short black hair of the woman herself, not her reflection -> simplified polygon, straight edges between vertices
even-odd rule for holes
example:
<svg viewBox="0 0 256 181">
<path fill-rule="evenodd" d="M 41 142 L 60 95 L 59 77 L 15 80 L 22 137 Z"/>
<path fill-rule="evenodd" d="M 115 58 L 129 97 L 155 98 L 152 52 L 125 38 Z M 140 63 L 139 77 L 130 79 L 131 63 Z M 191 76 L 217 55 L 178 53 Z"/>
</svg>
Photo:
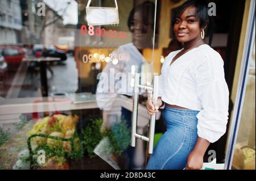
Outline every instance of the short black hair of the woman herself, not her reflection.
<svg viewBox="0 0 256 181">
<path fill-rule="evenodd" d="M 188 0 L 185 1 L 175 12 L 174 18 L 172 19 L 172 26 L 174 27 L 175 19 L 180 17 L 181 14 L 187 9 L 188 7 L 195 7 L 196 8 L 196 18 L 200 20 L 200 28 L 205 28 L 205 36 L 209 36 L 209 44 L 212 43 L 212 36 L 214 32 L 214 18 L 213 16 L 208 15 L 209 7 L 208 7 L 207 0 Z"/>
</svg>

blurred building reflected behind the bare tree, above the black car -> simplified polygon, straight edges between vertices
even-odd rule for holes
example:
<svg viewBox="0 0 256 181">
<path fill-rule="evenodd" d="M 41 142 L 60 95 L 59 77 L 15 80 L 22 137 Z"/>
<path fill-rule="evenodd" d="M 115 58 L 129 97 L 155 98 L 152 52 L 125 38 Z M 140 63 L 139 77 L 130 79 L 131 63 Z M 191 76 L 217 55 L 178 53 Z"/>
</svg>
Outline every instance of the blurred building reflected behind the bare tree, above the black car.
<svg viewBox="0 0 256 181">
<path fill-rule="evenodd" d="M 37 6 L 42 0 L 20 0 L 22 7 L 22 43 L 57 45 L 59 37 L 74 36 L 72 25 L 63 25 L 59 12 L 46 5 L 46 15 L 39 16 Z"/>
</svg>

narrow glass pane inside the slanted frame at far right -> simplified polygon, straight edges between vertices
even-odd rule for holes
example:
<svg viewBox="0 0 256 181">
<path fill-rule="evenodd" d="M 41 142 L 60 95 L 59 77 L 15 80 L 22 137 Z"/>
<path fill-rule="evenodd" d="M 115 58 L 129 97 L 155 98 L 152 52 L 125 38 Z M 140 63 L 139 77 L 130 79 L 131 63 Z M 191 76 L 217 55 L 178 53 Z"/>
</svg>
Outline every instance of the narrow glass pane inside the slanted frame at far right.
<svg viewBox="0 0 256 181">
<path fill-rule="evenodd" d="M 249 61 L 245 99 L 232 169 L 255 170 L 255 40 L 253 54 Z"/>
</svg>

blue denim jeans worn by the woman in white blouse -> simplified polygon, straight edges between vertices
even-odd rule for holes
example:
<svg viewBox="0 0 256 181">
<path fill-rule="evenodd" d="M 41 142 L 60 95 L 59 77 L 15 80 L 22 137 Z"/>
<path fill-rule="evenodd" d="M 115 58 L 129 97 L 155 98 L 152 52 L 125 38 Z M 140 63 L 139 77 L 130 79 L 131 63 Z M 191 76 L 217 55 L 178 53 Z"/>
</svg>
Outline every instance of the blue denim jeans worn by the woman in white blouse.
<svg viewBox="0 0 256 181">
<path fill-rule="evenodd" d="M 187 165 L 188 155 L 197 141 L 197 113 L 199 111 L 180 110 L 165 107 L 163 119 L 167 131 L 159 139 L 151 155 L 147 169 L 178 170 Z"/>
</svg>

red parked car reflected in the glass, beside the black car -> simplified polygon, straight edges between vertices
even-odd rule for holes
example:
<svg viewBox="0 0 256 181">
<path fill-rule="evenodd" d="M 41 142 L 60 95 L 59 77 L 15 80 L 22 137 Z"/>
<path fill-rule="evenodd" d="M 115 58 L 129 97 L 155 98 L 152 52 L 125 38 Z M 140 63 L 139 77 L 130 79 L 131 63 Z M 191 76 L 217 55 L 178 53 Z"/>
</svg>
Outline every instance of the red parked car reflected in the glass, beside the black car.
<svg viewBox="0 0 256 181">
<path fill-rule="evenodd" d="M 0 47 L 2 56 L 5 58 L 7 64 L 20 63 L 24 58 L 26 49 L 20 47 Z"/>
</svg>

